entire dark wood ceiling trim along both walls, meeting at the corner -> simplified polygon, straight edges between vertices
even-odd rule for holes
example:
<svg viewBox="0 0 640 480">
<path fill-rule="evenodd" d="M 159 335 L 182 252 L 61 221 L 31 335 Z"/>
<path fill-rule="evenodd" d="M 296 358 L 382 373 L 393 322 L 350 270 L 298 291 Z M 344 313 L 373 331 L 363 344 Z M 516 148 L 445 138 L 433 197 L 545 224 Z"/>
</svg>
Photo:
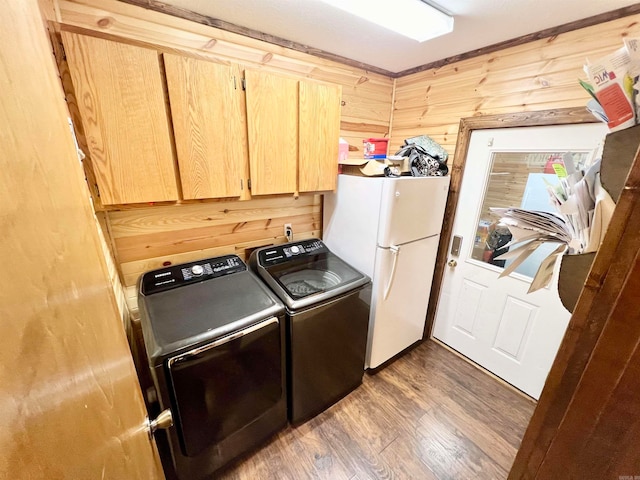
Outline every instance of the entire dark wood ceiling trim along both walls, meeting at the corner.
<svg viewBox="0 0 640 480">
<path fill-rule="evenodd" d="M 617 10 L 612 10 L 610 12 L 605 12 L 599 15 L 583 18 L 581 20 L 576 20 L 575 22 L 565 23 L 564 25 L 559 25 L 557 27 L 551 27 L 544 30 L 540 30 L 539 32 L 522 35 L 520 37 L 512 38 L 510 40 L 505 40 L 504 42 L 494 43 L 493 45 L 488 45 L 486 47 L 478 48 L 470 52 L 465 52 L 459 55 L 443 58 L 442 60 L 437 60 L 435 62 L 420 65 L 414 68 L 403 70 L 401 72 L 392 72 L 390 70 L 385 70 L 384 68 L 369 65 L 363 62 L 358 62 L 356 60 L 352 60 L 350 58 L 343 57 L 341 55 L 336 55 L 331 52 L 326 52 L 318 48 L 313 48 L 313 47 L 310 47 L 309 45 L 293 42 L 291 40 L 287 40 L 282 37 L 270 35 L 268 33 L 260 32 L 258 30 L 253 30 L 251 28 L 242 27 L 240 25 L 226 22 L 224 20 L 220 20 L 217 18 L 209 17 L 207 15 L 202 15 L 200 13 L 187 10 L 186 8 L 169 5 L 167 3 L 164 3 L 158 0 L 119 0 L 119 1 L 123 3 L 128 3 L 130 5 L 142 7 L 146 10 L 153 10 L 155 12 L 166 13 L 167 15 L 171 15 L 173 17 L 183 18 L 185 20 L 190 20 L 192 22 L 200 23 L 202 25 L 208 25 L 210 27 L 219 28 L 220 30 L 225 30 L 227 32 L 237 33 L 238 35 L 243 35 L 245 37 L 253 38 L 255 40 L 271 43 L 273 45 L 278 45 L 280 47 L 289 48 L 291 50 L 295 50 L 298 52 L 307 53 L 309 55 L 313 55 L 319 58 L 324 58 L 326 60 L 332 60 L 334 62 L 342 63 L 350 67 L 359 68 L 362 70 L 366 70 L 367 72 L 377 73 L 379 75 L 384 75 L 390 78 L 400 78 L 400 77 L 405 77 L 407 75 L 411 75 L 414 73 L 423 72 L 425 70 L 430 70 L 432 68 L 440 68 L 450 63 L 460 62 L 462 60 L 468 60 L 470 58 L 479 57 L 480 55 L 485 55 L 487 53 L 494 53 L 499 50 L 503 50 L 505 48 L 515 47 L 517 45 L 533 42 L 535 40 L 540 40 L 542 38 L 554 37 L 554 36 L 560 35 L 561 33 L 571 32 L 573 30 L 578 30 L 580 28 L 590 27 L 592 25 L 597 25 L 599 23 L 609 22 L 611 20 L 617 20 L 619 18 L 628 17 L 629 15 L 640 13 L 640 3 L 636 3 L 628 7 L 623 7 Z"/>
</svg>

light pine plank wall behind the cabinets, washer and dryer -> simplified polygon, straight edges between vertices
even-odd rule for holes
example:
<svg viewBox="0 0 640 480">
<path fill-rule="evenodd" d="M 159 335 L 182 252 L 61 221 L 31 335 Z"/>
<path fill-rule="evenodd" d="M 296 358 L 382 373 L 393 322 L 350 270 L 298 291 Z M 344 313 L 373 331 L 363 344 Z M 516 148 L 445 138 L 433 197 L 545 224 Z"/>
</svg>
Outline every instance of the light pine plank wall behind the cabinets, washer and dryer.
<svg viewBox="0 0 640 480">
<path fill-rule="evenodd" d="M 52 1 L 56 21 L 62 25 L 214 62 L 341 85 L 340 134 L 352 145 L 354 158 L 362 157 L 362 139 L 389 135 L 393 80 L 383 75 L 115 0 Z M 128 304 L 135 313 L 135 283 L 144 271 L 166 262 L 229 253 L 245 258 L 252 248 L 285 242 L 285 223 L 292 224 L 294 239 L 321 236 L 322 196 L 156 205 L 107 211 L 105 217 Z"/>
</svg>

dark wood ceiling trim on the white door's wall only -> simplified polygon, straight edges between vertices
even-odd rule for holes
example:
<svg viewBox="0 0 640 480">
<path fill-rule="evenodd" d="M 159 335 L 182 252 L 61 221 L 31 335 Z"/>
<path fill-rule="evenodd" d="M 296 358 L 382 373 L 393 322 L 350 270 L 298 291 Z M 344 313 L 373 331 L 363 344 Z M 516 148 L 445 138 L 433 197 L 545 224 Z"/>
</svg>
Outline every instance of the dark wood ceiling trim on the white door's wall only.
<svg viewBox="0 0 640 480">
<path fill-rule="evenodd" d="M 594 15 L 592 17 L 583 18 L 582 20 L 576 20 L 575 22 L 565 23 L 557 27 L 546 28 L 539 32 L 530 33 L 528 35 L 522 35 L 521 37 L 512 38 L 511 40 L 505 40 L 504 42 L 494 43 L 486 47 L 471 50 L 470 52 L 461 53 L 460 55 L 454 55 L 452 57 L 443 58 L 435 62 L 427 63 L 419 67 L 409 68 L 394 74 L 395 78 L 405 77 L 418 72 L 424 72 L 425 70 L 431 70 L 432 68 L 440 68 L 450 63 L 460 62 L 462 60 L 469 60 L 470 58 L 479 57 L 480 55 L 486 55 L 487 53 L 494 53 L 505 48 L 516 47 L 525 43 L 533 42 L 543 38 L 550 38 L 560 35 L 561 33 L 571 32 L 573 30 L 579 30 L 585 27 L 591 27 L 599 23 L 610 22 L 611 20 L 617 20 L 619 18 L 628 17 L 640 13 L 640 3 L 630 5 L 628 7 L 612 10 L 611 12 L 601 13 L 600 15 Z"/>
</svg>

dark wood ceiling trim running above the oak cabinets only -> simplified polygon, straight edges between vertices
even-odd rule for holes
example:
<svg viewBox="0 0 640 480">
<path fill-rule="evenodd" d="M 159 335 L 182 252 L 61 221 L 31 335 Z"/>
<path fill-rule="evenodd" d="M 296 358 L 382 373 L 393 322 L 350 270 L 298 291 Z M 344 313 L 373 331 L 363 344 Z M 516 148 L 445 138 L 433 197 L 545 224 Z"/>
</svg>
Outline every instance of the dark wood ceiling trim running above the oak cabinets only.
<svg viewBox="0 0 640 480">
<path fill-rule="evenodd" d="M 224 20 L 209 17 L 207 15 L 202 15 L 200 13 L 187 10 L 186 8 L 176 7 L 174 5 L 169 5 L 164 2 L 159 2 L 156 0 L 119 0 L 119 1 L 123 3 L 131 4 L 131 5 L 135 5 L 138 7 L 142 7 L 146 10 L 153 10 L 155 12 L 166 13 L 167 15 L 171 15 L 173 17 L 183 18 L 185 20 L 190 20 L 192 22 L 200 23 L 202 25 L 208 25 L 210 27 L 219 28 L 220 30 L 225 30 L 227 32 L 237 33 L 238 35 L 253 38 L 255 40 L 260 40 L 266 43 L 270 43 L 272 45 L 278 45 L 280 47 L 289 48 L 297 52 L 313 55 L 314 57 L 324 58 L 325 60 L 331 60 L 334 62 L 342 63 L 344 65 L 349 65 L 351 67 L 359 68 L 361 70 L 366 70 L 367 72 L 384 75 L 385 77 L 393 78 L 396 75 L 394 72 L 385 70 L 384 68 L 375 67 L 367 63 L 358 62 L 356 60 L 352 60 L 350 58 L 343 57 L 341 55 L 336 55 L 334 53 L 326 52 L 318 48 L 313 48 L 309 45 L 293 42 L 291 40 L 287 40 L 282 37 L 277 37 L 275 35 L 270 35 L 268 33 L 260 32 L 258 30 L 241 27 L 240 25 L 236 25 L 234 23 L 225 22 Z"/>
</svg>

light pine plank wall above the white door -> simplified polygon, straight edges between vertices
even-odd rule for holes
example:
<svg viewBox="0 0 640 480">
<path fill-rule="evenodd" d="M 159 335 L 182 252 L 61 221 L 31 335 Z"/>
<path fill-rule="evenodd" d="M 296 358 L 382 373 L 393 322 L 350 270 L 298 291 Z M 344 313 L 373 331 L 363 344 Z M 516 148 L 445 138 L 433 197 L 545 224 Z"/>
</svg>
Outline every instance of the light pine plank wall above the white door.
<svg viewBox="0 0 640 480">
<path fill-rule="evenodd" d="M 585 57 L 613 52 L 625 36 L 640 36 L 640 15 L 398 78 L 389 151 L 426 134 L 453 155 L 461 118 L 583 106 Z"/>
</svg>

